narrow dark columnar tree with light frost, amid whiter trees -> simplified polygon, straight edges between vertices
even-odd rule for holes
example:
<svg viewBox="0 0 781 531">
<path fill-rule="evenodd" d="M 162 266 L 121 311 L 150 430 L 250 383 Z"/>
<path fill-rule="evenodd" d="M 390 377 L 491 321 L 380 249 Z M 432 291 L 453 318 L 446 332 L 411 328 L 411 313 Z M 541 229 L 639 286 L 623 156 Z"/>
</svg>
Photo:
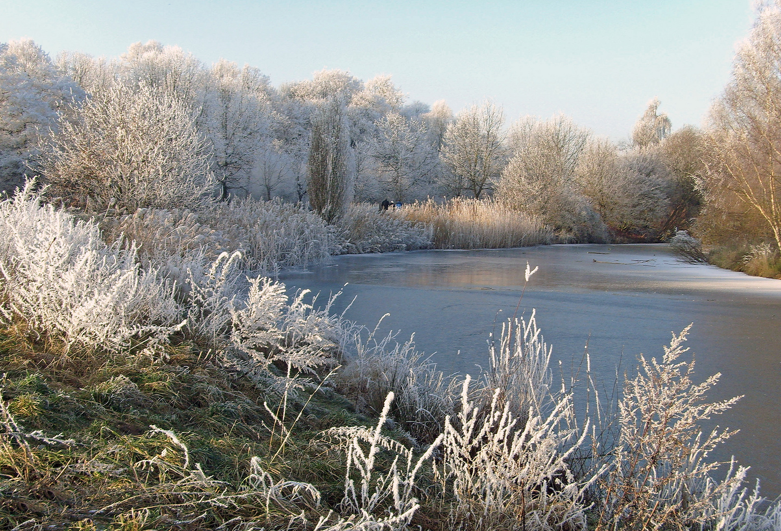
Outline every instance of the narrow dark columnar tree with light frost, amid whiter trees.
<svg viewBox="0 0 781 531">
<path fill-rule="evenodd" d="M 348 142 L 344 105 L 330 98 L 312 117 L 307 161 L 309 204 L 328 223 L 342 216 L 350 202 Z"/>
</svg>

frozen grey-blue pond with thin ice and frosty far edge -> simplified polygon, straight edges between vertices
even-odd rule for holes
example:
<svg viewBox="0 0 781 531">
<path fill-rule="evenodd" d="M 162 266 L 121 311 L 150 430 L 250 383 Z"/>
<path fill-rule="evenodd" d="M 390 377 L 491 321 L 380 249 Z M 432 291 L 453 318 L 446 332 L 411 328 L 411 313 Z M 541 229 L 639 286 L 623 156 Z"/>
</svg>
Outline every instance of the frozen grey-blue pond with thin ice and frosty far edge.
<svg viewBox="0 0 781 531">
<path fill-rule="evenodd" d="M 349 319 L 374 326 L 390 313 L 383 330 L 401 330 L 399 339 L 415 333 L 418 350 L 434 353 L 444 372 L 476 374 L 476 365 L 487 364 L 489 333 L 519 304 L 527 260 L 540 270 L 519 315 L 537 308 L 537 323 L 565 367 L 580 362 L 588 343 L 592 371 L 608 387 L 619 362 L 623 373 L 639 353 L 661 357 L 671 331 L 694 323 L 687 345 L 697 360 L 695 380 L 722 372 L 710 398 L 745 395 L 715 418 L 741 430 L 718 457 L 735 454 L 751 465 L 765 496 L 781 494 L 779 280 L 678 262 L 655 244 L 348 255 L 281 280 L 323 295 L 343 289 L 339 311 L 355 297 Z"/>
</svg>

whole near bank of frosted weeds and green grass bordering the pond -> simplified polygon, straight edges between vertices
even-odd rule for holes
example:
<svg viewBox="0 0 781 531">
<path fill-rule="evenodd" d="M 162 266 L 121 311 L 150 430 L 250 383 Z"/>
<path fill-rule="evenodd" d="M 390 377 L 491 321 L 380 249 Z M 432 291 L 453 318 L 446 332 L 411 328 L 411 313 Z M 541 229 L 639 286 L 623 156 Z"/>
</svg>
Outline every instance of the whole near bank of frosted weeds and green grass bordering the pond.
<svg viewBox="0 0 781 531">
<path fill-rule="evenodd" d="M 781 525 L 745 468 L 714 476 L 729 433 L 700 422 L 734 399 L 694 383 L 687 330 L 640 358 L 615 415 L 579 417 L 534 316 L 492 338 L 485 373 L 444 376 L 196 225 L 141 260 L 30 187 L 0 202 L 0 528 Z"/>
</svg>

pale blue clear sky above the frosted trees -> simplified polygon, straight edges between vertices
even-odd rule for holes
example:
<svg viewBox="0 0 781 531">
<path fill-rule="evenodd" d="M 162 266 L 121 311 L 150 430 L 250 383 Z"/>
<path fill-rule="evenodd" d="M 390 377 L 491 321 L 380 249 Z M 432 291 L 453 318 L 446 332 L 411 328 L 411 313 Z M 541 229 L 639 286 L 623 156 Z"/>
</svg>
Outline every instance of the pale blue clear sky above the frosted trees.
<svg viewBox="0 0 781 531">
<path fill-rule="evenodd" d="M 0 42 L 115 57 L 155 39 L 274 85 L 325 67 L 391 74 L 409 100 L 458 112 L 491 98 L 508 121 L 564 112 L 620 139 L 654 96 L 674 129 L 701 124 L 752 19 L 749 0 L 0 0 Z"/>
</svg>

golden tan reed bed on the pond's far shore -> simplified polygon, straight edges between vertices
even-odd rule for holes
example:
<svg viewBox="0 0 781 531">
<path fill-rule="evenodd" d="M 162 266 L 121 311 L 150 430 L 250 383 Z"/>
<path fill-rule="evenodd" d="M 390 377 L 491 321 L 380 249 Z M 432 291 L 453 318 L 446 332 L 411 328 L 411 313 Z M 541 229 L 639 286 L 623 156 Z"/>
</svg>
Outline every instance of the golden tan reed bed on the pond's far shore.
<svg viewBox="0 0 781 531">
<path fill-rule="evenodd" d="M 512 248 L 550 244 L 554 236 L 540 219 L 515 212 L 497 201 L 454 198 L 389 211 L 392 216 L 433 227 L 437 249 Z"/>
</svg>

